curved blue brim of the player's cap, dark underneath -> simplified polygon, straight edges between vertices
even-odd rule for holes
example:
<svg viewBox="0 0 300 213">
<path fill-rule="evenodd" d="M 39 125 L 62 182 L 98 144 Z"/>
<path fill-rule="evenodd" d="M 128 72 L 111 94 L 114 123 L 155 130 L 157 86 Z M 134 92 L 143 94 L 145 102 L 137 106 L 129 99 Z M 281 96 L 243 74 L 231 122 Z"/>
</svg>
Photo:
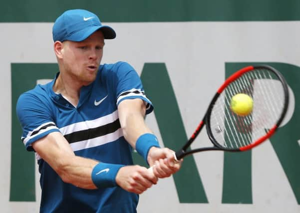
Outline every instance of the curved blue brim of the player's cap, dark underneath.
<svg viewBox="0 0 300 213">
<path fill-rule="evenodd" d="M 102 25 L 102 26 L 91 26 L 88 29 L 83 29 L 78 32 L 75 32 L 68 36 L 65 40 L 70 41 L 83 41 L 88 36 L 93 34 L 95 31 L 101 30 L 104 35 L 104 39 L 113 39 L 116 37 L 116 32 L 110 26 Z"/>
</svg>

